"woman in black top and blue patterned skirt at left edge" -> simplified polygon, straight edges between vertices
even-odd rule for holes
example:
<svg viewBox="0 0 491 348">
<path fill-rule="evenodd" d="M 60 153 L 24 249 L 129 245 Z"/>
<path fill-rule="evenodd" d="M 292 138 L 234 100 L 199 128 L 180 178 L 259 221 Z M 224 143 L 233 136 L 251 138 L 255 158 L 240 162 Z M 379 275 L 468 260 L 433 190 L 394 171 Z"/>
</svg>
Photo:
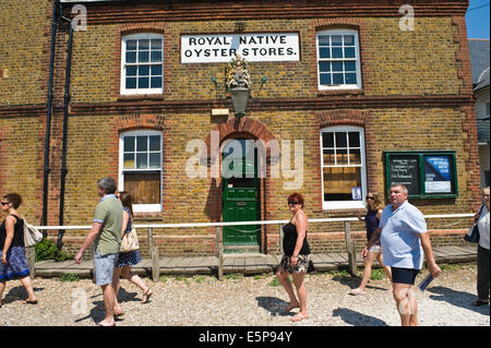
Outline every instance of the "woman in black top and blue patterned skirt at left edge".
<svg viewBox="0 0 491 348">
<path fill-rule="evenodd" d="M 7 214 L 0 225 L 0 307 L 5 281 L 21 279 L 27 291 L 25 304 L 37 304 L 33 285 L 29 278 L 29 266 L 25 259 L 24 218 L 17 212 L 22 197 L 17 193 L 9 193 L 0 203 L 1 211 Z"/>
</svg>

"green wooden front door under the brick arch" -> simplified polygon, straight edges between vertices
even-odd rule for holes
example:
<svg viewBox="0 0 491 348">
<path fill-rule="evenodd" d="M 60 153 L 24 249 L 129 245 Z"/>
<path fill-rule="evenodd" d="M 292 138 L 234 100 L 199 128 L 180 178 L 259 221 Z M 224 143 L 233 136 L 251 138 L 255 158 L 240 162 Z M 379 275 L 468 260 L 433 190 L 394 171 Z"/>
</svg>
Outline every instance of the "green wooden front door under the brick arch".
<svg viewBox="0 0 491 348">
<path fill-rule="evenodd" d="M 255 221 L 261 216 L 258 153 L 252 141 L 236 141 L 235 151 L 224 146 L 223 153 L 223 221 Z M 224 245 L 259 245 L 261 226 L 227 226 L 223 235 Z"/>
</svg>

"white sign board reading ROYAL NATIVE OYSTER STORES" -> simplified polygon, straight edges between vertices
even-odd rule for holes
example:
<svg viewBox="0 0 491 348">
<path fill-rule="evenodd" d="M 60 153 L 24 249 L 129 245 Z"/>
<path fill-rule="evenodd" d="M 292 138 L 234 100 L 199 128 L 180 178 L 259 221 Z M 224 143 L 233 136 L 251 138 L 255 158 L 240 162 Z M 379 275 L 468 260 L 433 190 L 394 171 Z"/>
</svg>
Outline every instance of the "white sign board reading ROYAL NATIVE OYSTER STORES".
<svg viewBox="0 0 491 348">
<path fill-rule="evenodd" d="M 236 53 L 249 62 L 298 61 L 298 33 L 181 36 L 181 63 L 227 63 Z"/>
</svg>

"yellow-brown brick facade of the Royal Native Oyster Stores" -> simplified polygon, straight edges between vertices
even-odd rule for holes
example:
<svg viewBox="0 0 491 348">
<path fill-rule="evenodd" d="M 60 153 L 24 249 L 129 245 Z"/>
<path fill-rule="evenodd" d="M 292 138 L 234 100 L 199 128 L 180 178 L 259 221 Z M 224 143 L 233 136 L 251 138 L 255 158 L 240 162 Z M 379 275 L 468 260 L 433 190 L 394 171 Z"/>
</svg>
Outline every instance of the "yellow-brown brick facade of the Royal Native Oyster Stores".
<svg viewBox="0 0 491 348">
<path fill-rule="evenodd" d="M 0 3 L 4 43 L 0 191 L 20 192 L 25 216 L 38 221 L 55 1 L 29 1 L 28 7 L 22 1 Z M 76 3 L 85 12 L 72 13 Z M 224 220 L 227 188 L 221 178 L 212 176 L 213 164 L 204 161 L 205 178 L 187 172 L 193 156 L 195 163 L 203 163 L 199 160 L 203 153 L 188 148 L 190 142 L 197 140 L 209 149 L 213 134 L 218 134 L 220 147 L 232 139 L 274 140 L 280 146 L 290 141 L 291 168 L 300 155 L 294 144 L 302 141 L 303 177 L 295 191 L 304 195 L 310 218 L 361 213 L 362 201 L 350 197 L 354 187 L 362 197 L 368 190 L 385 194 L 390 152 L 394 156 L 406 152 L 407 158 L 423 156 L 424 164 L 431 153 L 454 166 L 448 187 L 440 189 L 444 194 L 432 194 L 439 189 L 431 191 L 431 182 L 421 182 L 428 194 L 410 200 L 424 214 L 475 211 L 479 166 L 467 4 L 412 1 L 412 29 L 407 29 L 404 25 L 411 22 L 403 25 L 402 21 L 410 12 L 400 11 L 404 2 L 391 0 L 61 1 L 65 17 L 86 14 L 86 27 L 73 33 L 64 225 L 91 224 L 98 200 L 96 180 L 105 176 L 116 178 L 120 190 L 133 191 L 141 203 L 135 208 L 136 224 Z M 252 36 L 258 41 L 290 35 L 298 43 L 290 51 L 285 48 L 298 53 L 290 61 L 270 57 L 279 49 L 268 50 L 267 45 L 256 48 L 256 52 L 266 49 L 265 58 L 253 57 L 253 48 L 243 57 L 250 60 L 253 86 L 241 119 L 233 116 L 221 84 L 226 62 L 206 62 L 204 51 L 195 61 L 183 62 L 189 37 L 193 39 L 188 43 L 194 44 L 202 38 L 205 49 L 206 40 L 216 37 Z M 59 221 L 68 38 L 69 24 L 58 20 L 47 225 Z M 261 84 L 263 76 L 267 79 Z M 218 81 L 216 86 L 212 77 Z M 230 112 L 215 117 L 214 109 Z M 448 152 L 452 156 L 445 157 Z M 294 179 L 274 178 L 271 157 L 266 163 L 267 176 L 255 188 L 258 218 L 288 219 L 286 197 Z M 428 172 L 421 176 L 428 178 Z M 469 223 L 428 220 L 436 244 L 462 243 Z M 312 224 L 313 252 L 343 249 L 342 228 L 342 224 Z M 356 238 L 361 245 L 364 227 L 352 224 L 351 229 L 359 231 Z M 75 250 L 85 233 L 68 231 L 63 248 Z M 49 236 L 56 239 L 57 231 Z M 156 236 L 161 254 L 214 253 L 214 229 L 156 230 Z M 262 228 L 256 244 L 262 252 L 277 252 L 277 227 Z"/>
</svg>

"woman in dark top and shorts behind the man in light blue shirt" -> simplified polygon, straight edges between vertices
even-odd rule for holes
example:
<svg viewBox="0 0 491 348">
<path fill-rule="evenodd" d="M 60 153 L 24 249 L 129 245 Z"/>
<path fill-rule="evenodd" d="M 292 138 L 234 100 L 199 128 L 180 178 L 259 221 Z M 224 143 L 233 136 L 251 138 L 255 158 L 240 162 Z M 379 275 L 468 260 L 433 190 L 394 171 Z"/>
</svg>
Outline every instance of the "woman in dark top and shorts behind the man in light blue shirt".
<svg viewBox="0 0 491 348">
<path fill-rule="evenodd" d="M 367 195 L 367 215 L 362 218 L 358 215 L 360 221 L 364 221 L 367 227 L 367 240 L 370 240 L 373 231 L 379 227 L 380 217 L 382 216 L 384 205 L 382 199 L 378 192 L 369 192 Z M 391 267 L 385 266 L 382 262 L 382 249 L 380 242 L 376 245 L 370 248 L 367 257 L 364 259 L 364 269 L 363 276 L 361 278 L 361 284 L 358 288 L 352 289 L 349 295 L 364 295 L 364 287 L 367 286 L 370 275 L 372 274 L 372 263 L 379 261 L 380 265 L 384 268 L 385 274 L 392 281 Z"/>
</svg>

